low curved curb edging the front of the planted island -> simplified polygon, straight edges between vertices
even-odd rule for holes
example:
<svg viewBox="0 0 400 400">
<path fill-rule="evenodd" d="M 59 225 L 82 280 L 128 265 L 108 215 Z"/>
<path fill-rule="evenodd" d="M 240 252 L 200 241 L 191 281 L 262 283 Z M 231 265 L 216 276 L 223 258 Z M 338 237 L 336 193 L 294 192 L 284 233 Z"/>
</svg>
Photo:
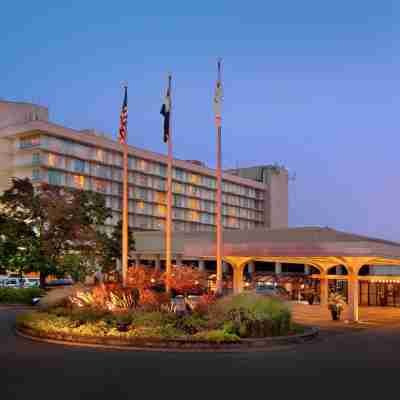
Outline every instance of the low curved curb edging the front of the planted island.
<svg viewBox="0 0 400 400">
<path fill-rule="evenodd" d="M 251 352 L 272 350 L 283 345 L 300 344 L 311 341 L 319 334 L 319 328 L 311 327 L 306 333 L 292 336 L 277 336 L 264 339 L 241 339 L 236 343 L 193 342 L 189 340 L 158 341 L 151 339 L 129 340 L 123 338 L 84 337 L 65 333 L 37 332 L 25 326 L 15 328 L 15 333 L 25 339 L 61 344 L 65 346 L 88 347 L 125 351 L 162 351 L 162 352 Z"/>
</svg>

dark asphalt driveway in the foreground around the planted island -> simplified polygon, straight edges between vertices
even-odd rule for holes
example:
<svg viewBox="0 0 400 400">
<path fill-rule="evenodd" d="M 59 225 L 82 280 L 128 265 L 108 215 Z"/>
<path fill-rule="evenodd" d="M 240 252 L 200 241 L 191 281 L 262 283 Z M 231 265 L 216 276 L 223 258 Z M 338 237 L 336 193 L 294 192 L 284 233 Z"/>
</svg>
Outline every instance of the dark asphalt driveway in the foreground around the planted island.
<svg viewBox="0 0 400 400">
<path fill-rule="evenodd" d="M 0 400 L 393 397 L 400 323 L 263 352 L 99 350 L 17 337 L 0 309 Z M 275 396 L 274 396 L 275 397 Z"/>
</svg>

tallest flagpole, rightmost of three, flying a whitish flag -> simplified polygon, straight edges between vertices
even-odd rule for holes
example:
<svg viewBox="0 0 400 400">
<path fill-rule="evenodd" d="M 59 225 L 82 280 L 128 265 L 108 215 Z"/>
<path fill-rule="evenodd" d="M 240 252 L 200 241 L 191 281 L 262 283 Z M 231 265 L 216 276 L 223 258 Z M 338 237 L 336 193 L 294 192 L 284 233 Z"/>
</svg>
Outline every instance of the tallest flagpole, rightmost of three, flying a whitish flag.
<svg viewBox="0 0 400 400">
<path fill-rule="evenodd" d="M 217 88 L 221 86 L 221 60 L 218 60 Z M 219 99 L 222 101 L 222 99 Z M 217 129 L 217 282 L 216 291 L 222 294 L 222 149 L 221 110 L 216 106 L 215 124 Z"/>
</svg>

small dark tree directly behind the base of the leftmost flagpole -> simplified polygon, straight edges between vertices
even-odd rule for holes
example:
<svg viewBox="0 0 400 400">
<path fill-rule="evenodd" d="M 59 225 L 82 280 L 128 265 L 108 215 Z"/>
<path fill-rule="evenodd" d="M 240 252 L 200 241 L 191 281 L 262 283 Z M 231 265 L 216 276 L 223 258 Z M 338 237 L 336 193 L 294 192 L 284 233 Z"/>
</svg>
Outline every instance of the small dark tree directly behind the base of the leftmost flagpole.
<svg viewBox="0 0 400 400">
<path fill-rule="evenodd" d="M 128 251 L 135 250 L 133 232 L 128 229 Z M 116 260 L 122 258 L 122 221 L 114 226 L 111 235 L 104 234 L 102 238 L 102 270 L 111 272 L 115 269 Z"/>
</svg>

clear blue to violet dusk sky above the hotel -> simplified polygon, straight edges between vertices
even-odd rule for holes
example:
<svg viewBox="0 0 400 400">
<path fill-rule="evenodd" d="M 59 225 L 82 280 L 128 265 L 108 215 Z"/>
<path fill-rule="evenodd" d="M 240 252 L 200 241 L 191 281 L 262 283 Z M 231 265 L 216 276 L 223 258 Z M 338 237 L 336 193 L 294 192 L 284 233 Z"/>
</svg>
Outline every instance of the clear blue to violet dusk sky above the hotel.
<svg viewBox="0 0 400 400">
<path fill-rule="evenodd" d="M 223 167 L 286 166 L 290 226 L 400 241 L 399 20 L 395 0 L 5 2 L 0 97 L 115 138 L 127 81 L 129 143 L 165 153 L 170 71 L 175 156 L 215 166 L 221 56 Z"/>
</svg>

